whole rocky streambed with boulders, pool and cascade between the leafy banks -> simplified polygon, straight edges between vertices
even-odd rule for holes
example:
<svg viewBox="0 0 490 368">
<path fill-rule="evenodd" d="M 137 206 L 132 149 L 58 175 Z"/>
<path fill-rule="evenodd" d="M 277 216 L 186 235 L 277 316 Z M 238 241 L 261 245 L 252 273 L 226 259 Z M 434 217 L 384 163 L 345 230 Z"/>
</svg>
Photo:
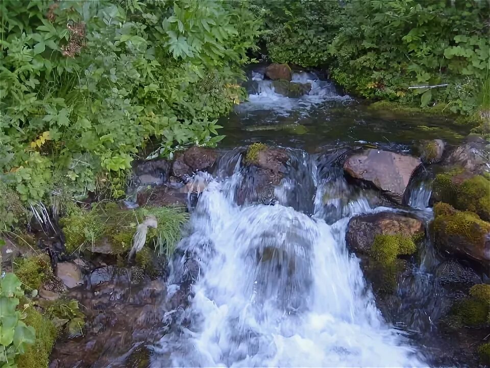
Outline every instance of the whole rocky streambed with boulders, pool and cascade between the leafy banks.
<svg viewBox="0 0 490 368">
<path fill-rule="evenodd" d="M 490 363 L 489 143 L 332 101 L 251 103 L 223 148 L 139 162 L 128 200 L 33 223 L 53 272 L 36 308 L 72 311 L 50 367 Z M 157 240 L 129 257 L 138 232 Z M 4 265 L 30 253 L 13 240 Z"/>
</svg>

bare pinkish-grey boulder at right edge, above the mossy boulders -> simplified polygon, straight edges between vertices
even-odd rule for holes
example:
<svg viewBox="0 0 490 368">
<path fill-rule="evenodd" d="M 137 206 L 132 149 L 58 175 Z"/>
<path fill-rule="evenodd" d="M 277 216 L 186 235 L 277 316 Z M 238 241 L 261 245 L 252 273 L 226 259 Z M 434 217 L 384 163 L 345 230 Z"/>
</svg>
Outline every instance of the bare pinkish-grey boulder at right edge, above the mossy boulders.
<svg viewBox="0 0 490 368">
<path fill-rule="evenodd" d="M 482 173 L 488 169 L 490 153 L 486 141 L 470 140 L 454 149 L 444 160 L 447 165 L 462 167 L 473 173 Z"/>
</svg>

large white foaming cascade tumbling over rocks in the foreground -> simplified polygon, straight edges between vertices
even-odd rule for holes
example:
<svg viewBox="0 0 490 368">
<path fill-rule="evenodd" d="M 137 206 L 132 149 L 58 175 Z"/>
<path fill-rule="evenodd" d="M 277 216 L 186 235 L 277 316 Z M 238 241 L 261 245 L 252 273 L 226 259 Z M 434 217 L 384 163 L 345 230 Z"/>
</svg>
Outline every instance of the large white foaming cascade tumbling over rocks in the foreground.
<svg viewBox="0 0 490 368">
<path fill-rule="evenodd" d="M 184 255 L 174 264 L 175 284 L 189 259 L 199 263 L 198 280 L 178 326 L 154 347 L 152 368 L 423 365 L 403 333 L 384 322 L 359 260 L 347 250 L 349 217 L 340 217 L 370 211 L 367 200 L 347 203 L 349 210 L 327 224 L 330 215 L 320 211 L 318 198 L 330 190 L 328 180 L 316 178 L 302 156 L 296 161 L 303 168 L 294 172 L 310 176 L 290 175 L 276 192 L 287 192 L 288 180 L 289 190 L 315 182 L 316 195 L 306 190 L 301 198 L 311 202 L 312 217 L 287 195 L 282 204 L 237 205 L 242 174 L 236 155 L 228 162 L 235 168 L 231 176 L 210 179 L 192 213 L 190 235 L 180 243 Z M 226 171 L 218 168 L 218 177 Z M 339 191 L 336 186 L 333 193 Z"/>
</svg>

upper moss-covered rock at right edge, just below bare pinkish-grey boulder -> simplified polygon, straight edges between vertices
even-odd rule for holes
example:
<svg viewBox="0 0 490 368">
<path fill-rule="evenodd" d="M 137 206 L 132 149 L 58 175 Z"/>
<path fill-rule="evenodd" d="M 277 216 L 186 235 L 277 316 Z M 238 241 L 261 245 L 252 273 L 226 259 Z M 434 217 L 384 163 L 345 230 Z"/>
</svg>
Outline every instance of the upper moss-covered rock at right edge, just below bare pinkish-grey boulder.
<svg viewBox="0 0 490 368">
<path fill-rule="evenodd" d="M 456 210 L 472 211 L 481 219 L 490 220 L 490 180 L 482 175 L 453 171 L 438 174 L 434 180 L 434 198 Z"/>
</svg>

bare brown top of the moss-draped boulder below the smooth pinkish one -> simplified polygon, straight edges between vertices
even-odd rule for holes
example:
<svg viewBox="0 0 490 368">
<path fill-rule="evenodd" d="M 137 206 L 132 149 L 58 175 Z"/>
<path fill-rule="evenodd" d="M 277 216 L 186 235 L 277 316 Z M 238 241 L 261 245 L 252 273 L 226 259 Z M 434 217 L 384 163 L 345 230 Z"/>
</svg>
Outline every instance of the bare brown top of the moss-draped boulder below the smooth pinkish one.
<svg viewBox="0 0 490 368">
<path fill-rule="evenodd" d="M 424 232 L 421 220 L 394 212 L 380 212 L 351 218 L 347 226 L 346 241 L 350 249 L 368 254 L 376 235 L 412 237 Z"/>
</svg>

